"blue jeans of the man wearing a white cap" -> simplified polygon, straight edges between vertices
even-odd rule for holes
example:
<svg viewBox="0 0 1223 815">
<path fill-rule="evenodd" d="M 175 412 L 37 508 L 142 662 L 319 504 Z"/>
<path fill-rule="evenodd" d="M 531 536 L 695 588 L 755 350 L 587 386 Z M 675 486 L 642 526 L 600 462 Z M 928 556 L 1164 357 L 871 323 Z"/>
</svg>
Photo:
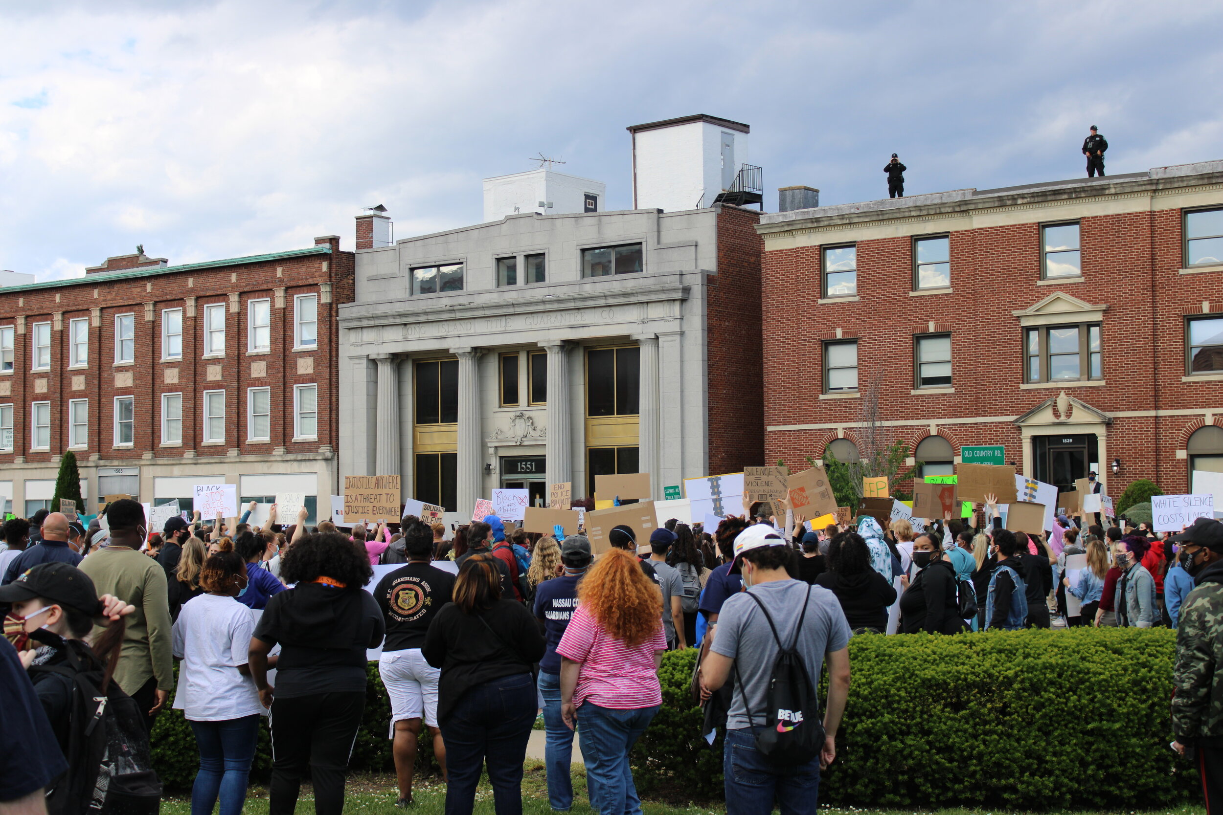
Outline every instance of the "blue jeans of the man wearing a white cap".
<svg viewBox="0 0 1223 815">
<path fill-rule="evenodd" d="M 726 731 L 722 751 L 726 813 L 769 815 L 777 798 L 781 815 L 816 815 L 819 798 L 819 756 L 797 767 L 777 767 L 756 751 L 750 727 Z"/>
</svg>

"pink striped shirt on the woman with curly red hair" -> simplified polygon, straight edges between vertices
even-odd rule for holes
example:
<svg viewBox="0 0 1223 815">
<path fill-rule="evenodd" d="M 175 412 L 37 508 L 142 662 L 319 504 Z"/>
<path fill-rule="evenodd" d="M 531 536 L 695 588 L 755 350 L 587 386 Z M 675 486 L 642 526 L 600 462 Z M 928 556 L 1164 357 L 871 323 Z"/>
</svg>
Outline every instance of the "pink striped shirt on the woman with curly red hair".
<svg viewBox="0 0 1223 815">
<path fill-rule="evenodd" d="M 667 638 L 659 624 L 654 635 L 629 648 L 612 637 L 594 617 L 578 606 L 569 621 L 556 652 L 581 662 L 574 704 L 592 701 L 599 707 L 637 710 L 663 704 L 663 693 L 654 670 L 654 652 L 667 650 Z"/>
</svg>

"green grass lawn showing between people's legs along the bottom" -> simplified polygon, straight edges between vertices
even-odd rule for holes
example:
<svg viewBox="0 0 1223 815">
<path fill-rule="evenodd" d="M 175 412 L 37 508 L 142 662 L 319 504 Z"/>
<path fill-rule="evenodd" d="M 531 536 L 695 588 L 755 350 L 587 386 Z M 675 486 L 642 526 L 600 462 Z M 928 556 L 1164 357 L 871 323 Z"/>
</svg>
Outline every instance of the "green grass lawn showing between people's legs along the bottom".
<svg viewBox="0 0 1223 815">
<path fill-rule="evenodd" d="M 544 775 L 543 762 L 528 759 L 526 771 L 522 777 L 522 811 L 528 815 L 552 815 L 548 805 L 548 782 Z M 417 780 L 413 784 L 413 798 L 416 805 L 410 809 L 395 808 L 395 777 L 391 775 L 352 775 L 349 777 L 346 787 L 347 800 L 344 806 L 345 813 L 361 813 L 362 815 L 395 815 L 397 813 L 416 813 L 417 815 L 440 814 L 444 809 L 446 788 L 440 778 Z M 574 766 L 574 815 L 589 815 L 589 802 L 586 799 L 586 771 L 580 766 Z M 709 806 L 670 806 L 656 802 L 643 802 L 642 810 L 646 815 L 725 815 L 725 808 L 719 803 Z M 215 811 L 215 810 L 214 810 Z M 246 815 L 267 815 L 268 791 L 264 787 L 252 787 L 246 799 Z M 191 795 L 179 794 L 169 797 L 161 802 L 163 815 L 191 815 Z M 302 784 L 302 794 L 297 802 L 298 815 L 313 815 L 314 797 L 309 784 Z M 488 780 L 481 781 L 476 792 L 476 813 L 493 815 L 493 791 L 488 786 Z M 822 806 L 821 813 L 827 815 L 912 815 L 910 810 L 877 810 L 860 808 L 833 808 Z M 934 810 L 931 815 L 1004 815 L 1003 813 L 981 813 L 969 809 L 942 809 Z M 1135 813 L 1046 813 L 1043 815 L 1139 815 Z M 1205 806 L 1184 806 L 1172 810 L 1150 810 L 1141 815 L 1206 815 Z"/>
</svg>

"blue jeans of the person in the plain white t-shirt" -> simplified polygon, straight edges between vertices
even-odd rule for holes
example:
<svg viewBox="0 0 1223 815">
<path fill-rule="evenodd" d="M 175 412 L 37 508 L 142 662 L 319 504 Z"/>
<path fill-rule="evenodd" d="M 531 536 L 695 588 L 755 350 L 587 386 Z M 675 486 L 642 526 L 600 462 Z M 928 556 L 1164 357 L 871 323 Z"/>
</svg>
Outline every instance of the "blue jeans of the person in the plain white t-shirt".
<svg viewBox="0 0 1223 815">
<path fill-rule="evenodd" d="M 252 714 L 219 722 L 191 722 L 199 745 L 199 772 L 191 787 L 191 815 L 212 815 L 218 795 L 220 815 L 241 815 L 259 738 L 259 714 Z"/>
</svg>

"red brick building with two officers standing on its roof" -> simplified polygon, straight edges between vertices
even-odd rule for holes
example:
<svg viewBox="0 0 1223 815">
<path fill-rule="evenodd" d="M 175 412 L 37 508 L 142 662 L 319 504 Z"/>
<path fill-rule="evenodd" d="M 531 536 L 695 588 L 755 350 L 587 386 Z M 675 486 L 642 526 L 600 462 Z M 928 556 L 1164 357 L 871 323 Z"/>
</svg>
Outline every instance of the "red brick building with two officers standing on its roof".
<svg viewBox="0 0 1223 815">
<path fill-rule="evenodd" d="M 1223 470 L 1223 161 L 764 215 L 766 459 L 963 445 L 1114 497 Z M 1114 474 L 1115 473 L 1115 474 Z"/>
</svg>

